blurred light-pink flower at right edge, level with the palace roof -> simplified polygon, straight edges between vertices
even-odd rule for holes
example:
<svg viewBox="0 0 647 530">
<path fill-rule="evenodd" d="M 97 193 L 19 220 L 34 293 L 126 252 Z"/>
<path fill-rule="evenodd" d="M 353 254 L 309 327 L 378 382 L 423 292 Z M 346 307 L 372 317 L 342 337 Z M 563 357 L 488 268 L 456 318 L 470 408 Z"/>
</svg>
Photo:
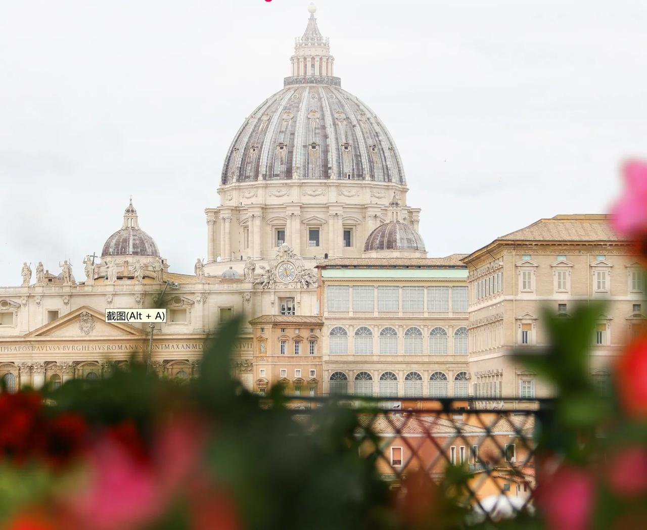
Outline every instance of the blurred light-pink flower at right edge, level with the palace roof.
<svg viewBox="0 0 647 530">
<path fill-rule="evenodd" d="M 635 236 L 647 233 L 647 162 L 629 160 L 622 167 L 624 196 L 613 206 L 613 228 Z"/>
</svg>

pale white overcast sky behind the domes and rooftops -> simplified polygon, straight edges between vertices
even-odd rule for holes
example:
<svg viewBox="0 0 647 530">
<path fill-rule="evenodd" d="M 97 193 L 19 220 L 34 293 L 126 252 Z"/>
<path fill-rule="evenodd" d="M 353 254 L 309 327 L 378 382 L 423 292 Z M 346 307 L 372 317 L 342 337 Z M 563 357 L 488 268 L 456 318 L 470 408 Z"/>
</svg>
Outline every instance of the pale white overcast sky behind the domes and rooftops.
<svg viewBox="0 0 647 530">
<path fill-rule="evenodd" d="M 0 16 L 0 285 L 101 253 L 128 197 L 171 270 L 309 0 L 21 0 Z M 647 158 L 647 2 L 319 0 L 342 87 L 395 138 L 430 257 L 600 213 Z"/>
</svg>

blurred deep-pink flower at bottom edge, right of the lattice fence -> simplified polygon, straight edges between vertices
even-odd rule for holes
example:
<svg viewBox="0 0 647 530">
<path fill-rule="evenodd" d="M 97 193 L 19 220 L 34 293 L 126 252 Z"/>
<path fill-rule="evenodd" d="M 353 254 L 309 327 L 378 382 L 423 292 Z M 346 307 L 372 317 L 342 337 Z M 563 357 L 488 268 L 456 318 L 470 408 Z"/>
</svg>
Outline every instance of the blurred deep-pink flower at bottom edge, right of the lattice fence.
<svg viewBox="0 0 647 530">
<path fill-rule="evenodd" d="M 595 483 L 586 469 L 562 464 L 542 474 L 537 503 L 551 530 L 585 530 L 589 525 Z"/>
</svg>

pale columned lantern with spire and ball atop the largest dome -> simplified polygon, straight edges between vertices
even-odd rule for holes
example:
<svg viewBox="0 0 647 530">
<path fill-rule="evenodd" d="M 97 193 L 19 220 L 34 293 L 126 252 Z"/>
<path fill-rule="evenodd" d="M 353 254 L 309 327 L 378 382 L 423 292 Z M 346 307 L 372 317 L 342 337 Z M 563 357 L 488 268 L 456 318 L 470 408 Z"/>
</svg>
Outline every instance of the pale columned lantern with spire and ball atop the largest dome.
<svg viewBox="0 0 647 530">
<path fill-rule="evenodd" d="M 308 6 L 310 18 L 302 37 L 294 41 L 294 55 L 290 58 L 292 75 L 283 80 L 283 86 L 289 85 L 334 85 L 339 87 L 341 81 L 333 76 L 334 57 L 330 53 L 330 43 L 323 37 L 314 13 L 314 4 Z"/>
</svg>

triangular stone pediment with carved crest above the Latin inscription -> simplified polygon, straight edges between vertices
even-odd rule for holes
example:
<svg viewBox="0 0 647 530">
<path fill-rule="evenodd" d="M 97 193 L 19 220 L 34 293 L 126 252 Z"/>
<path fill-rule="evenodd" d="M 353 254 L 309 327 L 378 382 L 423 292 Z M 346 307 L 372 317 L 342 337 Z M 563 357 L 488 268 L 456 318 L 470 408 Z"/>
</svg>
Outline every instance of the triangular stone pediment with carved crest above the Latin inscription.
<svg viewBox="0 0 647 530">
<path fill-rule="evenodd" d="M 90 306 L 82 306 L 58 317 L 58 319 L 36 328 L 26 337 L 124 337 L 144 338 L 146 335 L 125 323 L 105 322 L 105 313 Z"/>
</svg>

